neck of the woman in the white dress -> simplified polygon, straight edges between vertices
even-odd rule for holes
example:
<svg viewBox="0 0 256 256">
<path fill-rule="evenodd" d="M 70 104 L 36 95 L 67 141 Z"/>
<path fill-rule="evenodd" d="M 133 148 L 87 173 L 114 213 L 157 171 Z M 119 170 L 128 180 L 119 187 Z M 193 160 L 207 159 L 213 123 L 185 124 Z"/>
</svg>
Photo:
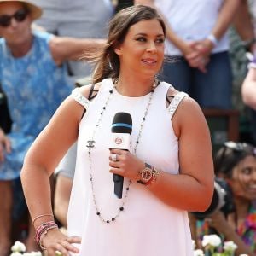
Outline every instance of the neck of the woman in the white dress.
<svg viewBox="0 0 256 256">
<path fill-rule="evenodd" d="M 133 79 L 122 76 L 116 84 L 116 89 L 124 96 L 144 96 L 152 90 L 154 82 L 154 78 Z"/>
</svg>

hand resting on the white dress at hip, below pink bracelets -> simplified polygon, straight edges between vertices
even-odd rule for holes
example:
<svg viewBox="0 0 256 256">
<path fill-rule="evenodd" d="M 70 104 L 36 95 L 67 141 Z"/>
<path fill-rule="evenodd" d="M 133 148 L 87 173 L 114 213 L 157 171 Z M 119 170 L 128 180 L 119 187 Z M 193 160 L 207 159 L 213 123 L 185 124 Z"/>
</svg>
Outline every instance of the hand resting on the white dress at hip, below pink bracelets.
<svg viewBox="0 0 256 256">
<path fill-rule="evenodd" d="M 56 252 L 60 252 L 61 256 L 69 256 L 70 252 L 79 253 L 79 249 L 74 247 L 73 243 L 81 243 L 81 238 L 66 236 L 59 229 L 48 230 L 41 239 L 41 245 L 46 248 L 48 256 L 58 255 Z"/>
</svg>

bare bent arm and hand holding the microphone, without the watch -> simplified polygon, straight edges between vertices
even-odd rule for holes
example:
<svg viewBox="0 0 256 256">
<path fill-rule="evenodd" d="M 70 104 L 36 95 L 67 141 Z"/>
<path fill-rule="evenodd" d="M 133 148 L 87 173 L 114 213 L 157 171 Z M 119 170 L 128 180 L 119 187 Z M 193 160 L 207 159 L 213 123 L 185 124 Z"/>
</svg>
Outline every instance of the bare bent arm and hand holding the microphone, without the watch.
<svg viewBox="0 0 256 256">
<path fill-rule="evenodd" d="M 180 173 L 158 170 L 156 181 L 147 188 L 167 205 L 203 212 L 209 207 L 213 192 L 212 147 L 206 119 L 198 104 L 187 98 L 180 103 L 172 124 L 179 138 Z M 110 172 L 133 181 L 139 179 L 144 168 L 142 160 L 120 149 L 112 149 L 111 154 L 118 154 L 118 161 L 110 157 Z"/>
</svg>

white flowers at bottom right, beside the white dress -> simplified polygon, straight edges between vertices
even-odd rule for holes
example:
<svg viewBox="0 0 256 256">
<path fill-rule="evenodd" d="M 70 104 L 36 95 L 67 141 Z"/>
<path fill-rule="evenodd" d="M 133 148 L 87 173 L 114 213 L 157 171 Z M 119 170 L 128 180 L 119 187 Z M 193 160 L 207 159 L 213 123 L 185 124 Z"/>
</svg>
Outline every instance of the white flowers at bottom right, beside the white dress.
<svg viewBox="0 0 256 256">
<path fill-rule="evenodd" d="M 192 241 L 194 247 L 194 256 L 235 256 L 236 244 L 233 241 L 224 241 L 222 243 L 221 238 L 217 235 L 203 236 L 201 242 L 204 251 L 195 248 L 195 241 Z M 247 254 L 241 254 L 240 256 L 247 256 Z"/>
</svg>

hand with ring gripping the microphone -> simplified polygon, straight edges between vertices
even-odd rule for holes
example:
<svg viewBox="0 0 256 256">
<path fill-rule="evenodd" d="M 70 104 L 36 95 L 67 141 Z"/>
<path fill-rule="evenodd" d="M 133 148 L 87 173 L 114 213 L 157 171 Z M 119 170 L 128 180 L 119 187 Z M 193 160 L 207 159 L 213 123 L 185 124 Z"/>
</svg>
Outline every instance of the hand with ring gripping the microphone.
<svg viewBox="0 0 256 256">
<path fill-rule="evenodd" d="M 109 172 L 137 181 L 145 163 L 129 151 L 110 149 L 109 166 Z"/>
</svg>

